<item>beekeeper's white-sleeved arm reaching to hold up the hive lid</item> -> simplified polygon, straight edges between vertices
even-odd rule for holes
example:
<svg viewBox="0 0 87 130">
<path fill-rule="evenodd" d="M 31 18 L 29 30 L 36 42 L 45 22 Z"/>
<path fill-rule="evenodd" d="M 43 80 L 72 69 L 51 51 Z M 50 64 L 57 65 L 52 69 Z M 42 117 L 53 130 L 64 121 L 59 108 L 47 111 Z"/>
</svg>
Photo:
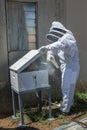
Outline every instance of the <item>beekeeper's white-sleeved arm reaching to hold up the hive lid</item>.
<svg viewBox="0 0 87 130">
<path fill-rule="evenodd" d="M 76 47 L 76 40 L 74 38 L 73 35 L 66 33 L 62 38 L 60 38 L 58 41 L 49 44 L 47 46 L 45 46 L 45 48 L 47 50 L 53 50 L 54 52 L 58 51 L 58 50 L 63 50 L 65 48 L 68 48 L 66 50 L 68 50 L 68 54 L 73 57 L 75 54 L 75 51 L 77 50 Z"/>
</svg>

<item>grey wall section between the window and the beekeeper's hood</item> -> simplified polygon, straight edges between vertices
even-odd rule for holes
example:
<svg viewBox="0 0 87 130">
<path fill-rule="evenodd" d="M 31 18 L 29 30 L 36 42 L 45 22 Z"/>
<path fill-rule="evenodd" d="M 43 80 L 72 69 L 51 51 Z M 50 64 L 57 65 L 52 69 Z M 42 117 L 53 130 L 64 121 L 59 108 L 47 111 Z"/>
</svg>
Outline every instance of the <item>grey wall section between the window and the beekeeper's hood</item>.
<svg viewBox="0 0 87 130">
<path fill-rule="evenodd" d="M 46 34 L 55 20 L 65 24 L 64 0 L 38 0 L 38 43 L 39 47 L 49 44 Z"/>
</svg>

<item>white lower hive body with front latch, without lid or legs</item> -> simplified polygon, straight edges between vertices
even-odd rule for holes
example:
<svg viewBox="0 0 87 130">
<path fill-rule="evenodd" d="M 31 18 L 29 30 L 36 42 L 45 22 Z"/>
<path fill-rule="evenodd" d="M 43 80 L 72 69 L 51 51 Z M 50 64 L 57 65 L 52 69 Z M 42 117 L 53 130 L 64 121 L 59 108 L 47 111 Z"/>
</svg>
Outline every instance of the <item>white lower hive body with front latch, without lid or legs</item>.
<svg viewBox="0 0 87 130">
<path fill-rule="evenodd" d="M 15 73 L 10 71 L 11 87 L 16 92 L 35 91 L 49 87 L 48 70 Z"/>
</svg>

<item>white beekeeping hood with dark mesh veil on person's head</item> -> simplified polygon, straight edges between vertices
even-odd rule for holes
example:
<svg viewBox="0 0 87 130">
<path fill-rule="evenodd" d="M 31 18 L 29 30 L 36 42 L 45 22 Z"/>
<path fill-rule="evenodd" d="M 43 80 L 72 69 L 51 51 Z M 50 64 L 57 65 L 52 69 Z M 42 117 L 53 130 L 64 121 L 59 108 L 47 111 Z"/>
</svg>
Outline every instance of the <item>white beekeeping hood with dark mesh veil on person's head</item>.
<svg viewBox="0 0 87 130">
<path fill-rule="evenodd" d="M 67 29 L 61 24 L 60 22 L 54 21 L 52 22 L 52 26 L 49 30 L 49 33 L 46 35 L 47 39 L 55 42 L 59 38 L 61 38 L 65 33 L 67 32 Z"/>
</svg>

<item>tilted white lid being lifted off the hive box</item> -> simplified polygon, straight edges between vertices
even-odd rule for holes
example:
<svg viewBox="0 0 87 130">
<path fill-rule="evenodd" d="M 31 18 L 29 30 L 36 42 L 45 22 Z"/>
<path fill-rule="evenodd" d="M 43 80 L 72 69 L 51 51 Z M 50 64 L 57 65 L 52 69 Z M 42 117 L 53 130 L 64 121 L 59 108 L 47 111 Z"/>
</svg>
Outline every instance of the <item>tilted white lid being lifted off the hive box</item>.
<svg viewBox="0 0 87 130">
<path fill-rule="evenodd" d="M 38 59 L 41 55 L 42 53 L 40 53 L 38 50 L 31 50 L 22 58 L 20 58 L 17 62 L 11 65 L 9 69 L 20 73 L 21 71 L 26 69 L 31 63 L 33 63 L 36 59 Z"/>
</svg>

